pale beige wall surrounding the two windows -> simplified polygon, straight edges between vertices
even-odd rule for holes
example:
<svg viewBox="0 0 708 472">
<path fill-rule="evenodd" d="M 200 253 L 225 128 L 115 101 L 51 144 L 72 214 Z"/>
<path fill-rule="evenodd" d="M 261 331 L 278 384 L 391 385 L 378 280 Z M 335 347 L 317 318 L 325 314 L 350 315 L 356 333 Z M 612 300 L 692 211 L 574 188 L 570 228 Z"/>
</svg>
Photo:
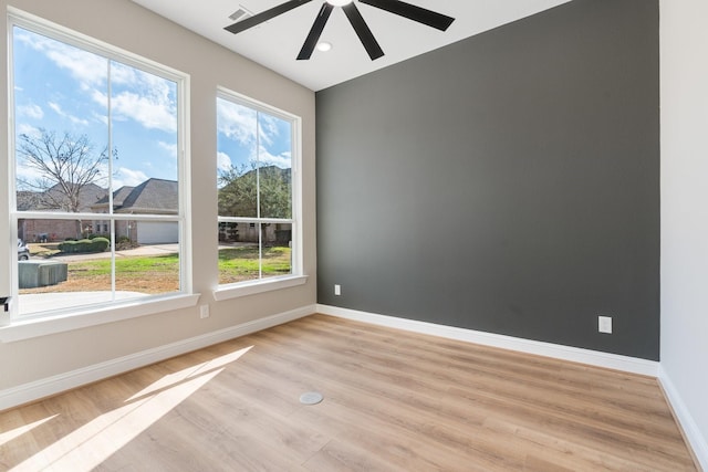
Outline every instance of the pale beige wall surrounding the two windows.
<svg viewBox="0 0 708 472">
<path fill-rule="evenodd" d="M 315 193 L 314 93 L 171 23 L 128 0 L 0 0 L 72 30 L 174 67 L 191 76 L 191 228 L 194 286 L 199 304 L 209 303 L 211 316 L 200 319 L 198 308 L 179 310 L 117 323 L 0 343 L 0 397 L 42 379 L 125 358 L 165 345 L 290 313 L 315 303 Z M 0 143 L 8 137 L 7 22 L 0 21 Z M 303 119 L 304 285 L 242 298 L 216 302 L 217 192 L 216 92 L 217 86 L 299 115 Z M 7 149 L 0 153 L 7 154 Z M 4 157 L 0 154 L 0 162 Z M 0 179 L 7 171 L 0 166 Z M 7 186 L 0 180 L 0 222 L 9 221 Z M 210 191 L 209 189 L 212 189 Z M 0 224 L 0 289 L 9 285 L 8 224 Z M 3 290 L 0 290 L 0 293 Z M 18 398 L 14 396 L 13 398 Z"/>
</svg>

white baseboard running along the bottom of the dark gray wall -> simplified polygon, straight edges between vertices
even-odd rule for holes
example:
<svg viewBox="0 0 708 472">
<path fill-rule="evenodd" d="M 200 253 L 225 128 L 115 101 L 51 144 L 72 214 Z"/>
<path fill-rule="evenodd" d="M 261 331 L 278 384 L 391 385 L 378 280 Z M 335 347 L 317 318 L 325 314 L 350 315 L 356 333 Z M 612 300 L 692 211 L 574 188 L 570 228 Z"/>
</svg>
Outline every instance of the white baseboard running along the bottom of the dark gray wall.
<svg viewBox="0 0 708 472">
<path fill-rule="evenodd" d="M 538 340 L 521 339 L 512 336 L 483 333 L 452 326 L 444 326 L 414 319 L 397 318 L 395 316 L 377 315 L 373 313 L 340 308 L 330 305 L 317 305 L 317 313 L 372 323 L 381 326 L 405 329 L 414 333 L 428 334 L 449 339 L 481 344 L 485 346 L 500 347 L 503 349 L 518 350 L 527 354 L 535 354 L 539 356 L 589 364 L 592 366 L 604 367 L 608 369 L 623 370 L 650 377 L 658 376 L 658 363 L 653 360 L 639 359 L 636 357 L 601 353 L 597 350 L 582 349 L 579 347 L 562 346 Z"/>
</svg>

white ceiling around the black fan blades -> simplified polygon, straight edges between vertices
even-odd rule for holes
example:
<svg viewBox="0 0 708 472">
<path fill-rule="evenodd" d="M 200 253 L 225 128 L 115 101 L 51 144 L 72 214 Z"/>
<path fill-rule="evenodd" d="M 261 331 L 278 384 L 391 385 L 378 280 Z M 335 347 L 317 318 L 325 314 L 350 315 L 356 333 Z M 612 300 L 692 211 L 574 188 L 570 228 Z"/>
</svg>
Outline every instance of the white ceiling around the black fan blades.
<svg viewBox="0 0 708 472">
<path fill-rule="evenodd" d="M 232 23 L 229 15 L 235 11 L 242 8 L 257 14 L 287 0 L 133 1 L 313 91 L 320 91 L 570 0 L 407 0 L 455 18 L 445 32 L 357 3 L 386 54 L 376 61 L 368 59 L 341 8 L 334 9 L 321 36 L 321 41 L 333 44 L 332 50 L 315 50 L 309 61 L 295 60 L 323 0 L 313 0 L 238 34 L 223 30 Z"/>
</svg>

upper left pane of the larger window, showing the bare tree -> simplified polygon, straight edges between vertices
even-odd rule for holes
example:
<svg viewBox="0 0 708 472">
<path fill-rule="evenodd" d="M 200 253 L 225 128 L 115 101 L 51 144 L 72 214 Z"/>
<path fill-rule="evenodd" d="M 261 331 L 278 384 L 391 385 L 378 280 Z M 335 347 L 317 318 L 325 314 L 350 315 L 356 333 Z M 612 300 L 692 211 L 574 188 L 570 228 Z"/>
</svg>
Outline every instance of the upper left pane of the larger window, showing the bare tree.
<svg viewBox="0 0 708 472">
<path fill-rule="evenodd" d="M 18 210 L 90 211 L 108 185 L 107 61 L 18 27 L 13 52 Z"/>
</svg>

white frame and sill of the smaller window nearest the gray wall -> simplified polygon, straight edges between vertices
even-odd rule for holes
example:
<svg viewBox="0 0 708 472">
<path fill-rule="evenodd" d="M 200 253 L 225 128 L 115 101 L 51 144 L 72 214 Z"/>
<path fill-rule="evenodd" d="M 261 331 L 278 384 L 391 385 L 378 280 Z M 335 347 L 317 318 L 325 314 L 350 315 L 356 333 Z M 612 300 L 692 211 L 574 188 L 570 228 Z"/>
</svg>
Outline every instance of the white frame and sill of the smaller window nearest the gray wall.
<svg viewBox="0 0 708 472">
<path fill-rule="evenodd" d="M 302 285 L 308 281 L 308 276 L 303 273 L 303 225 L 302 225 L 302 118 L 298 115 L 288 113 L 272 105 L 266 104 L 258 99 L 251 98 L 238 92 L 219 86 L 215 97 L 228 102 L 236 103 L 241 106 L 254 109 L 257 113 L 287 120 L 290 123 L 291 130 L 291 186 L 292 186 L 292 214 L 290 219 L 278 219 L 267 217 L 222 217 L 218 214 L 217 209 L 217 228 L 221 222 L 237 223 L 288 223 L 291 224 L 292 242 L 291 242 L 291 273 L 288 275 L 269 276 L 264 279 L 254 279 L 243 282 L 235 282 L 229 284 L 218 284 L 212 295 L 216 301 L 236 298 L 240 296 L 253 295 L 257 293 L 269 292 L 273 290 L 282 290 L 292 286 Z M 215 108 L 216 109 L 216 108 Z M 217 126 L 218 128 L 218 126 Z M 218 133 L 218 132 L 217 132 Z M 215 156 L 216 159 L 216 156 Z M 216 177 L 216 176 L 215 176 Z M 217 241 L 218 244 L 218 241 Z M 218 259 L 217 259 L 218 263 Z M 218 268 L 217 268 L 218 272 Z"/>
</svg>

